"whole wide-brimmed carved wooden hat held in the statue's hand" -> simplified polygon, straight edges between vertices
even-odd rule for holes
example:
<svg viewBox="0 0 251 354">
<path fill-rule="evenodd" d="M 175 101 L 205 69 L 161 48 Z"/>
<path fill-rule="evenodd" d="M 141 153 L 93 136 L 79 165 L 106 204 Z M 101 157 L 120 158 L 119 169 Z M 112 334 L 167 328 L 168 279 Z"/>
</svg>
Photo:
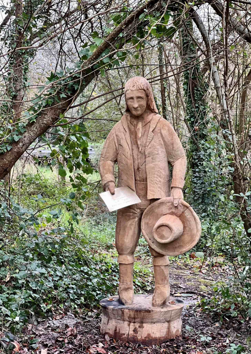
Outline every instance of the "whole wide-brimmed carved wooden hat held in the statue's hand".
<svg viewBox="0 0 251 354">
<path fill-rule="evenodd" d="M 184 200 L 178 206 L 173 198 L 151 204 L 143 213 L 141 230 L 148 244 L 165 256 L 178 256 L 191 250 L 201 237 L 201 222 Z"/>
</svg>

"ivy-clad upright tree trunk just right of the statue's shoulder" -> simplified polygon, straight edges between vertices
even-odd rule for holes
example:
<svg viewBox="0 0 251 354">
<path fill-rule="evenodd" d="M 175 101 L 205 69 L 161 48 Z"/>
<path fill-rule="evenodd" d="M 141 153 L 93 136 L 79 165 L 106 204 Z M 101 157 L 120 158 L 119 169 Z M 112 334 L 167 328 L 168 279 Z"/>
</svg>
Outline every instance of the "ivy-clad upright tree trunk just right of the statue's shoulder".
<svg viewBox="0 0 251 354">
<path fill-rule="evenodd" d="M 200 213 L 210 215 L 215 208 L 215 197 L 212 191 L 217 183 L 217 175 L 211 163 L 214 147 L 208 143 L 210 135 L 217 131 L 214 126 L 207 99 L 208 84 L 205 82 L 197 59 L 197 51 L 190 33 L 193 33 L 193 22 L 186 22 L 182 28 L 182 44 L 184 62 L 187 70 L 183 74 L 183 91 L 186 101 L 186 119 L 193 139 L 189 140 L 188 160 L 190 173 L 189 189 L 193 195 L 193 205 Z M 193 61 L 192 63 L 190 63 Z"/>
</svg>

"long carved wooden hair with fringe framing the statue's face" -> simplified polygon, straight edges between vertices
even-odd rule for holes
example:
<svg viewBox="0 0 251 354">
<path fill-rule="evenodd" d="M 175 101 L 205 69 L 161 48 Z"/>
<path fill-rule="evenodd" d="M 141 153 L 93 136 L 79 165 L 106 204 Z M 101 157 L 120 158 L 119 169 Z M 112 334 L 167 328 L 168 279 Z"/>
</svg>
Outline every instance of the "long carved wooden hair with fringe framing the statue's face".
<svg viewBox="0 0 251 354">
<path fill-rule="evenodd" d="M 129 79 L 125 84 L 125 98 L 126 92 L 128 90 L 144 90 L 147 95 L 147 108 L 154 113 L 159 113 L 154 101 L 153 91 L 147 79 L 142 76 L 133 76 L 133 78 Z M 126 112 L 129 112 L 129 108 L 126 103 Z"/>
</svg>

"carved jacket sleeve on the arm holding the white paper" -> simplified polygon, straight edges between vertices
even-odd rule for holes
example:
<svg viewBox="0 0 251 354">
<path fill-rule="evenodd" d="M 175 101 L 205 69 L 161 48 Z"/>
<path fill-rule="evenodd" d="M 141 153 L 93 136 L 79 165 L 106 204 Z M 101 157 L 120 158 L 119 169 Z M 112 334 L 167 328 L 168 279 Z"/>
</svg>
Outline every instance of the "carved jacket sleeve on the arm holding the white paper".
<svg viewBox="0 0 251 354">
<path fill-rule="evenodd" d="M 107 182 L 114 182 L 114 165 L 118 156 L 118 141 L 116 136 L 116 125 L 109 132 L 101 152 L 99 162 L 99 172 L 102 180 L 102 186 L 105 190 Z"/>
</svg>

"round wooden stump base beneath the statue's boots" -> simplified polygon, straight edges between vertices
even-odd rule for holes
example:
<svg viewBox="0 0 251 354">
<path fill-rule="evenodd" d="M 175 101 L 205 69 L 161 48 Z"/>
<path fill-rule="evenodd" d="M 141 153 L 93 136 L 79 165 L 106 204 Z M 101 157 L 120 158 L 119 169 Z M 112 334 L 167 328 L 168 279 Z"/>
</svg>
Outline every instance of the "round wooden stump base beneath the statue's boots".
<svg viewBox="0 0 251 354">
<path fill-rule="evenodd" d="M 159 344 L 181 335 L 184 302 L 171 297 L 166 305 L 152 307 L 152 295 L 135 295 L 132 305 L 122 305 L 119 297 L 100 301 L 101 334 L 122 342 Z M 170 304 L 174 301 L 174 304 Z"/>
</svg>

